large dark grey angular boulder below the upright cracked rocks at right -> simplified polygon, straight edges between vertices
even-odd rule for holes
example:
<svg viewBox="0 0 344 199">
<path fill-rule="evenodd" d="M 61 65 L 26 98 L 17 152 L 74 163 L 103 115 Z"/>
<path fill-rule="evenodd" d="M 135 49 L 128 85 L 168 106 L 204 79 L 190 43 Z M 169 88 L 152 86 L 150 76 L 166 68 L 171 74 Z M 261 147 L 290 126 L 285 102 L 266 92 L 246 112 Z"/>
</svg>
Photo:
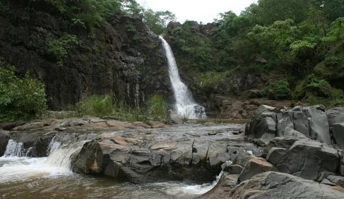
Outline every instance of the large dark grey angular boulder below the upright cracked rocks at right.
<svg viewBox="0 0 344 199">
<path fill-rule="evenodd" d="M 280 155 L 282 157 L 274 157 Z M 286 152 L 271 148 L 268 159 L 275 163 L 280 172 L 309 180 L 318 180 L 323 172 L 335 173 L 339 166 L 337 150 L 307 139 L 295 141 Z"/>
</svg>

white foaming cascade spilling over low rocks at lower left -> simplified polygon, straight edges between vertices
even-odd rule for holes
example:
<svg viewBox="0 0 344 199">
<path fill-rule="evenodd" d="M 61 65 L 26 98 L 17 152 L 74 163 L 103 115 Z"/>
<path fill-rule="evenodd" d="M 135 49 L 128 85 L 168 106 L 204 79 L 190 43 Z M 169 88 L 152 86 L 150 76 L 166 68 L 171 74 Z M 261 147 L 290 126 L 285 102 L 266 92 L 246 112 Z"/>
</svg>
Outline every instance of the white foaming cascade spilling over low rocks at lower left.
<svg viewBox="0 0 344 199">
<path fill-rule="evenodd" d="M 86 141 L 61 147 L 61 143 L 54 140 L 49 144 L 50 155 L 44 158 L 23 157 L 23 143 L 9 140 L 5 155 L 0 157 L 0 184 L 37 177 L 72 175 L 70 156 L 80 151 Z"/>
</svg>

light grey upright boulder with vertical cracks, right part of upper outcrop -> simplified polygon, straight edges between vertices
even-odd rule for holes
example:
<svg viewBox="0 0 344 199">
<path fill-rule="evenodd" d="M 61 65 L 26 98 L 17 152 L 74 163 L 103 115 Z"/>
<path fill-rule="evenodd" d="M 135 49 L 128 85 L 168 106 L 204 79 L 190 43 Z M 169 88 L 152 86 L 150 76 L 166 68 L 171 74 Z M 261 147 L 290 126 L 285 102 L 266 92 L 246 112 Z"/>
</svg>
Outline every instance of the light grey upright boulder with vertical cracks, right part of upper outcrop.
<svg viewBox="0 0 344 199">
<path fill-rule="evenodd" d="M 327 116 L 314 107 L 294 107 L 277 114 L 277 136 L 305 136 L 331 144 Z"/>
</svg>

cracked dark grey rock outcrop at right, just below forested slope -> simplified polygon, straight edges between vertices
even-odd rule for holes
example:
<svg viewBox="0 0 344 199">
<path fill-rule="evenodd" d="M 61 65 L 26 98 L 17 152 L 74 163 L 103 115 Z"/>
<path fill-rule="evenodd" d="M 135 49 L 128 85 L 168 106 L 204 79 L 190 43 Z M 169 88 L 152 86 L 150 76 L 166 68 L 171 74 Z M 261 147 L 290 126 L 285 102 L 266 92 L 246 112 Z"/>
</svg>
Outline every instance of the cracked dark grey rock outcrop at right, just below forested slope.
<svg viewBox="0 0 344 199">
<path fill-rule="evenodd" d="M 261 105 L 247 125 L 245 134 L 258 144 L 268 144 L 275 136 L 311 138 L 331 144 L 328 118 L 321 108 L 294 107 L 276 113 L 274 107 Z"/>
</svg>

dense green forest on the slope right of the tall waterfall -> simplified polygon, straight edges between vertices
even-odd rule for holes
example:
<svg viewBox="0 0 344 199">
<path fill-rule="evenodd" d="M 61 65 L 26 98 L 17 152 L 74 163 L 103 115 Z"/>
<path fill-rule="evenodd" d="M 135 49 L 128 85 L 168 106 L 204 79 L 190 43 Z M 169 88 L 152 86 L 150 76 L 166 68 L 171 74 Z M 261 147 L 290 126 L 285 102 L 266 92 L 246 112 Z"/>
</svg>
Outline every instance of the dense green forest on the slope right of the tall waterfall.
<svg viewBox="0 0 344 199">
<path fill-rule="evenodd" d="M 343 102 L 344 2 L 259 0 L 237 16 L 173 28 L 169 40 L 179 67 L 216 91 L 237 71 L 276 73 L 261 94 L 334 106 Z M 225 93 L 220 93 L 225 94 Z M 235 94 L 235 93 L 227 93 Z"/>
</svg>

